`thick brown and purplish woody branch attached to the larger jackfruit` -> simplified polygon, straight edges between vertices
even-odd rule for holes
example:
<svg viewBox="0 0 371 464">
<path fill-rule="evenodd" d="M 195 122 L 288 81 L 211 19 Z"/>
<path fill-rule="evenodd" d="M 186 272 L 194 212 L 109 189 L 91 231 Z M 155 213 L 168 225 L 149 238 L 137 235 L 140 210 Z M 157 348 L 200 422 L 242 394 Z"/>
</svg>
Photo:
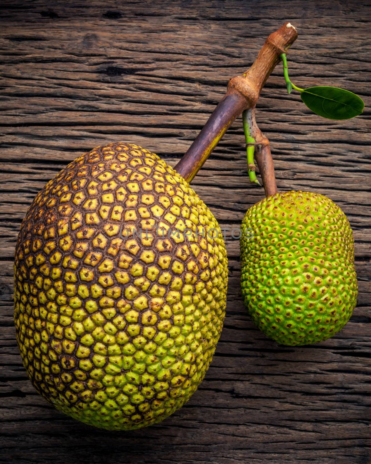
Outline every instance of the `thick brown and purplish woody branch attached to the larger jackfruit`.
<svg viewBox="0 0 371 464">
<path fill-rule="evenodd" d="M 265 82 L 280 60 L 280 54 L 287 52 L 297 36 L 294 26 L 285 23 L 278 31 L 270 34 L 251 68 L 241 76 L 230 79 L 227 93 L 175 166 L 185 180 L 192 181 L 236 117 L 243 110 L 255 107 Z"/>
</svg>

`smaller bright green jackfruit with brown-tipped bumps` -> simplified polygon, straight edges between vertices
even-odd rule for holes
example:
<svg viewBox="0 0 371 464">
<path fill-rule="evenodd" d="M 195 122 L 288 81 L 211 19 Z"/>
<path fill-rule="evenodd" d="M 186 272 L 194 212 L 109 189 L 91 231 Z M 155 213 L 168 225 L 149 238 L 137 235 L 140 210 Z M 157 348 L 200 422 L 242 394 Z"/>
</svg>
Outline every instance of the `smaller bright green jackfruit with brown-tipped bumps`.
<svg viewBox="0 0 371 464">
<path fill-rule="evenodd" d="M 283 345 L 321 342 L 357 303 L 354 241 L 345 214 L 318 193 L 276 193 L 242 222 L 241 288 L 262 332 Z"/>
</svg>

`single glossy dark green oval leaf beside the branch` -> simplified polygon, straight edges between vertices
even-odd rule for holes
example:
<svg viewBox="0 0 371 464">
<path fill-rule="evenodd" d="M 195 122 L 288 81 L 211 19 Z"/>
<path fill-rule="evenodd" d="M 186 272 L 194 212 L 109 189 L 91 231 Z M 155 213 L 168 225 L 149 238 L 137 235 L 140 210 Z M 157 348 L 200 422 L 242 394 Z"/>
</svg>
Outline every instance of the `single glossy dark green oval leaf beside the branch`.
<svg viewBox="0 0 371 464">
<path fill-rule="evenodd" d="M 309 87 L 300 96 L 313 113 L 327 119 L 350 119 L 361 114 L 365 107 L 362 98 L 339 87 Z"/>
</svg>

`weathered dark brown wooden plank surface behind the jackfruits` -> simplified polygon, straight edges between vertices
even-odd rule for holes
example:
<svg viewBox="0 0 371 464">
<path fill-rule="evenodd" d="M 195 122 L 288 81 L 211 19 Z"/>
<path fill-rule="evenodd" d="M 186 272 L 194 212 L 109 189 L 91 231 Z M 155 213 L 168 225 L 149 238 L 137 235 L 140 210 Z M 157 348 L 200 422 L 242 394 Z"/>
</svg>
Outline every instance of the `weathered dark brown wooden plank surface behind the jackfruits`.
<svg viewBox="0 0 371 464">
<path fill-rule="evenodd" d="M 279 6 L 277 6 L 277 5 Z M 11 463 L 371 462 L 370 23 L 367 1 L 8 1 L 1 6 L 0 441 Z M 204 382 L 162 424 L 106 432 L 56 412 L 26 378 L 13 327 L 12 259 L 34 195 L 77 155 L 138 143 L 175 165 L 265 38 L 286 20 L 299 39 L 295 84 L 355 91 L 362 116 L 329 121 L 287 95 L 281 67 L 258 103 L 279 190 L 323 193 L 356 242 L 358 307 L 333 339 L 290 348 L 254 328 L 230 236 L 224 330 Z M 246 174 L 241 119 L 193 187 L 220 224 L 239 227 L 263 195 Z"/>
</svg>

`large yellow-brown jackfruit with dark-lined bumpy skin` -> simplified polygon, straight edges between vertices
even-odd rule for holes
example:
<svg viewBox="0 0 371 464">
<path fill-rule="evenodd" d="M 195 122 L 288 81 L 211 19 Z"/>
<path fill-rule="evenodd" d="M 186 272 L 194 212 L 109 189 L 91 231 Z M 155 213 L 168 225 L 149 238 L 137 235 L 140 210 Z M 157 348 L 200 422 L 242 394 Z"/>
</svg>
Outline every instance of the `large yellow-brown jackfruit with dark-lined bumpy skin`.
<svg viewBox="0 0 371 464">
<path fill-rule="evenodd" d="M 227 273 L 216 219 L 173 168 L 137 145 L 95 148 L 45 185 L 20 228 L 14 319 L 28 377 L 86 424 L 160 422 L 205 376 Z"/>
</svg>

